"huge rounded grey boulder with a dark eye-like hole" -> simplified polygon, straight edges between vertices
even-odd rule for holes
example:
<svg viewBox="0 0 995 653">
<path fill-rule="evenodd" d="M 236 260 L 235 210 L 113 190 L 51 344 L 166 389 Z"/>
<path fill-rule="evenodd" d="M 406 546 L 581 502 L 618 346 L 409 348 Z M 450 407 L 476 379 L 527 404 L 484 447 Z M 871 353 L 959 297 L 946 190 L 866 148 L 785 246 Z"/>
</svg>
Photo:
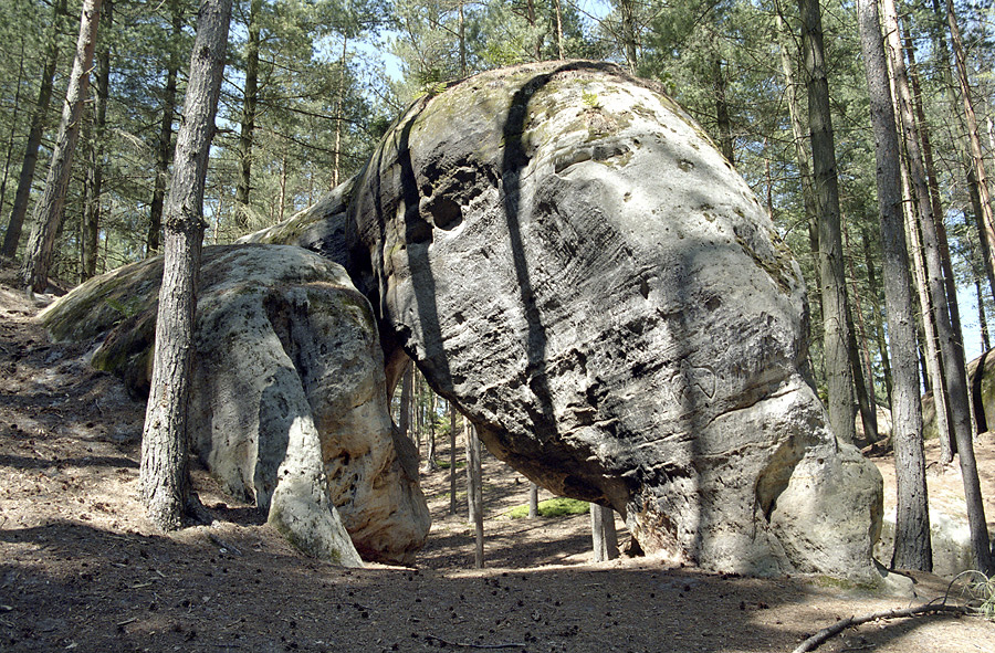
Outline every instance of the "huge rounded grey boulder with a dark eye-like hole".
<svg viewBox="0 0 995 653">
<path fill-rule="evenodd" d="M 412 105 L 352 193 L 388 366 L 396 340 L 499 457 L 647 551 L 876 577 L 881 478 L 805 380 L 798 267 L 656 86 L 584 62 L 471 77 Z"/>
</svg>

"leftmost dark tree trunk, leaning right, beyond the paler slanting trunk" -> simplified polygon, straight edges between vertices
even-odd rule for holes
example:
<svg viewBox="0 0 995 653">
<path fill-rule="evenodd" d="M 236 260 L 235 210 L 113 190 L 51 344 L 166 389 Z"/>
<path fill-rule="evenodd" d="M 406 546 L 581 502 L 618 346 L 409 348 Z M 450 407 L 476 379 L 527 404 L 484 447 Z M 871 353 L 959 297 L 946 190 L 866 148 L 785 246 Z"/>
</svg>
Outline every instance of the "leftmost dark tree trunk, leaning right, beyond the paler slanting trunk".
<svg viewBox="0 0 995 653">
<path fill-rule="evenodd" d="M 24 162 L 18 178 L 18 192 L 14 194 L 13 208 L 10 210 L 10 222 L 3 235 L 3 249 L 0 255 L 13 259 L 18 254 L 18 243 L 28 214 L 28 202 L 31 199 L 31 183 L 34 181 L 34 168 L 38 166 L 38 148 L 41 146 L 45 128 L 45 116 L 52 101 L 52 80 L 55 77 L 55 64 L 59 61 L 59 19 L 65 14 L 66 0 L 59 0 L 53 8 L 52 30 L 49 32 L 49 44 L 45 53 L 45 67 L 42 72 L 41 85 L 38 89 L 38 104 L 31 115 L 31 128 L 28 130 L 28 144 L 24 146 Z"/>
</svg>

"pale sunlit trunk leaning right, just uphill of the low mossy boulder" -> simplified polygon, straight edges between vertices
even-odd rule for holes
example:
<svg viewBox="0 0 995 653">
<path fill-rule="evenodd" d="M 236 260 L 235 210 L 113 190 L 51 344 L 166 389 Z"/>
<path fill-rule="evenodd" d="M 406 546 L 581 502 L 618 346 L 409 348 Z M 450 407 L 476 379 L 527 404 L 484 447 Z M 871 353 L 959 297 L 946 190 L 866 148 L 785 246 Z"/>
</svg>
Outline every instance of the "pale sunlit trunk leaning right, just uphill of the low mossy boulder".
<svg viewBox="0 0 995 653">
<path fill-rule="evenodd" d="M 72 173 L 73 151 L 80 138 L 83 104 L 90 84 L 90 66 L 96 45 L 97 25 L 101 19 L 101 0 L 83 0 L 80 12 L 80 36 L 73 72 L 65 91 L 65 104 L 59 124 L 59 136 L 52 150 L 52 164 L 45 178 L 45 190 L 34 212 L 34 225 L 28 239 L 28 251 L 21 276 L 29 293 L 44 292 L 49 285 L 49 267 L 55 249 L 55 236 L 62 227 L 62 208 Z"/>
</svg>

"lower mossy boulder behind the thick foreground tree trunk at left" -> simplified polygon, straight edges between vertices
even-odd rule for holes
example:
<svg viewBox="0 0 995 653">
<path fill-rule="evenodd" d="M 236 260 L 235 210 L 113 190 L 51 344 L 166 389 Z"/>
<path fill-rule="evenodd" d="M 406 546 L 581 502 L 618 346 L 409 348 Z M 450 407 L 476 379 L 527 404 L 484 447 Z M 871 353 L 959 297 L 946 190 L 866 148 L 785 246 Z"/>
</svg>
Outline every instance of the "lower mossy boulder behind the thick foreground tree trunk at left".
<svg viewBox="0 0 995 653">
<path fill-rule="evenodd" d="M 60 339 L 106 333 L 94 365 L 147 393 L 161 274 L 161 259 L 108 273 L 42 319 Z M 343 268 L 300 247 L 207 247 L 196 338 L 193 449 L 222 486 L 312 555 L 413 561 L 429 529 L 415 452 L 395 441 L 376 324 Z"/>
</svg>

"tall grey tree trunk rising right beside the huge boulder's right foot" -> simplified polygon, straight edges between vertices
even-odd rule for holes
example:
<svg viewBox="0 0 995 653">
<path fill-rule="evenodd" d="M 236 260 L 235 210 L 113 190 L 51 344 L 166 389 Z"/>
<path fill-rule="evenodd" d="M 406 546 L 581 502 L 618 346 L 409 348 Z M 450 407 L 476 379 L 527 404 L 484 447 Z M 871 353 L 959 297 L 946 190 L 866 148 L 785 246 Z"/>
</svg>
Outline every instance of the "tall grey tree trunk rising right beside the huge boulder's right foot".
<svg viewBox="0 0 995 653">
<path fill-rule="evenodd" d="M 891 411 L 898 509 L 891 564 L 893 567 L 930 571 L 933 554 L 922 447 L 922 407 L 913 346 L 912 280 L 902 215 L 901 150 L 877 0 L 859 0 L 857 8 L 874 133 L 878 207 L 884 254 L 884 303 L 894 378 Z"/>
</svg>

